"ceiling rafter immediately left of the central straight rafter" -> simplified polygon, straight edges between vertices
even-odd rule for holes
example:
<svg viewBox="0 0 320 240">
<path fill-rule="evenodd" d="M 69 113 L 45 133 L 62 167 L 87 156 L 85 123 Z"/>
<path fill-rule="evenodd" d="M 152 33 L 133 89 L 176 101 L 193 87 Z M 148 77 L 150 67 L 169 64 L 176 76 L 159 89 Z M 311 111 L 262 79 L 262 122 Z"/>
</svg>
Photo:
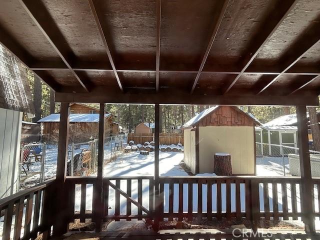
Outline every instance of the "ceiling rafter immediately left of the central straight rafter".
<svg viewBox="0 0 320 240">
<path fill-rule="evenodd" d="M 101 39 L 103 41 L 104 49 L 105 49 L 106 54 L 107 54 L 107 56 L 109 58 L 110 65 L 112 67 L 112 71 L 114 73 L 114 76 L 116 78 L 116 81 L 118 83 L 119 88 L 121 89 L 121 91 L 123 91 L 123 86 L 122 86 L 122 83 L 120 81 L 119 75 L 118 75 L 118 73 L 116 71 L 116 68 L 115 68 L 115 65 L 114 65 L 114 61 L 113 61 L 113 58 L 112 58 L 112 55 L 111 55 L 111 51 L 110 51 L 110 48 L 109 48 L 108 43 L 107 43 L 106 33 L 104 32 L 103 27 L 101 25 L 99 14 L 98 14 L 98 12 L 96 10 L 96 7 L 95 7 L 95 5 L 93 3 L 93 0 L 88 0 L 88 3 L 89 3 L 89 6 L 90 6 L 90 9 L 91 9 L 91 12 L 93 14 L 96 26 L 97 26 L 97 28 L 99 30 Z"/>
</svg>

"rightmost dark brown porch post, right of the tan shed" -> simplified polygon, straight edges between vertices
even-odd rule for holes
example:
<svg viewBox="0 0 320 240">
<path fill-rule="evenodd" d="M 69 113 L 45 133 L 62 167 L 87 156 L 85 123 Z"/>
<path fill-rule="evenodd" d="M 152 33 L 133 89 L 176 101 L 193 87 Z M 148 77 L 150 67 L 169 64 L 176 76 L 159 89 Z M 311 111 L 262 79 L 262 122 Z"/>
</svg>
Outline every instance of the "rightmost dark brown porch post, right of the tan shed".
<svg viewBox="0 0 320 240">
<path fill-rule="evenodd" d="M 314 217 L 313 217 L 313 184 L 311 179 L 311 165 L 308 144 L 308 128 L 306 118 L 305 105 L 295 106 L 298 127 L 298 145 L 301 171 L 301 206 L 302 206 L 302 221 L 304 229 L 307 233 L 314 233 Z"/>
</svg>

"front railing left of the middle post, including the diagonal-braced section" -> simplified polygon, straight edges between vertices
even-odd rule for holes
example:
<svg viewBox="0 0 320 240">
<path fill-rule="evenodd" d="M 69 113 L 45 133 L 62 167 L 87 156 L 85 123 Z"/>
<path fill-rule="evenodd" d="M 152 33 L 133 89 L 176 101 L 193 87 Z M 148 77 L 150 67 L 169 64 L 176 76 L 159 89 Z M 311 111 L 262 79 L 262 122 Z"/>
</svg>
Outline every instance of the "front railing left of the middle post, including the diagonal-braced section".
<svg viewBox="0 0 320 240">
<path fill-rule="evenodd" d="M 69 221 L 75 218 L 80 219 L 80 222 L 84 222 L 87 218 L 94 219 L 92 199 L 96 197 L 96 192 L 93 191 L 96 177 L 67 177 L 66 183 L 69 189 Z M 102 184 L 103 219 L 152 218 L 153 187 L 153 176 L 104 177 Z M 92 194 L 86 194 L 88 190 L 92 190 Z M 142 198 L 147 198 L 147 204 L 143 204 Z M 121 210 L 124 205 L 125 212 Z M 132 206 L 136 209 L 132 209 Z M 132 213 L 132 210 L 135 212 Z"/>
</svg>

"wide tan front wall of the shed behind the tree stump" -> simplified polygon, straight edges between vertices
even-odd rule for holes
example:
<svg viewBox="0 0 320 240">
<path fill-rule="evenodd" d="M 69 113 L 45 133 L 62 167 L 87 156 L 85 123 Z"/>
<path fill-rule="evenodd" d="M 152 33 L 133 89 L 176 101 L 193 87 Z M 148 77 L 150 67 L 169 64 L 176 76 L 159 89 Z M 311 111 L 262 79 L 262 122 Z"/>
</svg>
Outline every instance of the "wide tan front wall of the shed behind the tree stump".
<svg viewBox="0 0 320 240">
<path fill-rule="evenodd" d="M 213 172 L 215 152 L 231 154 L 232 174 L 254 174 L 254 127 L 200 126 L 199 171 Z"/>
</svg>

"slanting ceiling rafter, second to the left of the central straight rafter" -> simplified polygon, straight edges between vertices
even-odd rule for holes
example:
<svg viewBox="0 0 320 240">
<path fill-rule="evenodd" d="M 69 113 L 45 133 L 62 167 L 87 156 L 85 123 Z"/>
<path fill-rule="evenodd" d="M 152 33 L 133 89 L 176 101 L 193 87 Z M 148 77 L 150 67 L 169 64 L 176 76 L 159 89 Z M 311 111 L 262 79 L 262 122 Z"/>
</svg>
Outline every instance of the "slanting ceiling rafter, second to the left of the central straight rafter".
<svg viewBox="0 0 320 240">
<path fill-rule="evenodd" d="M 74 57 L 74 54 L 43 3 L 40 1 L 34 3 L 32 0 L 19 0 L 19 2 L 35 25 L 39 28 L 39 30 L 57 52 L 57 54 L 60 56 L 64 64 L 71 71 L 73 76 L 86 91 L 89 91 L 87 80 L 80 79 L 80 77 L 72 69 L 71 58 Z"/>
</svg>

